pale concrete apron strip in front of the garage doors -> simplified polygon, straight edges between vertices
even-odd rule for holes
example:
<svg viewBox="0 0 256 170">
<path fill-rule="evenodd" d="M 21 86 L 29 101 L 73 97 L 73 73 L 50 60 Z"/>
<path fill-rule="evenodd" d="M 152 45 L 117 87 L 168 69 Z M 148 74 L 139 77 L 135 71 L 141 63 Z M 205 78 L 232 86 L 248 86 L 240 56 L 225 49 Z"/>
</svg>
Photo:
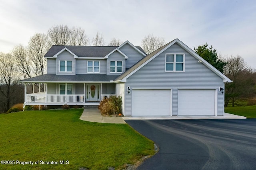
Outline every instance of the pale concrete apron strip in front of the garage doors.
<svg viewBox="0 0 256 170">
<path fill-rule="evenodd" d="M 244 116 L 224 113 L 224 116 L 125 116 L 124 120 L 164 120 L 164 119 L 246 119 Z"/>
</svg>

